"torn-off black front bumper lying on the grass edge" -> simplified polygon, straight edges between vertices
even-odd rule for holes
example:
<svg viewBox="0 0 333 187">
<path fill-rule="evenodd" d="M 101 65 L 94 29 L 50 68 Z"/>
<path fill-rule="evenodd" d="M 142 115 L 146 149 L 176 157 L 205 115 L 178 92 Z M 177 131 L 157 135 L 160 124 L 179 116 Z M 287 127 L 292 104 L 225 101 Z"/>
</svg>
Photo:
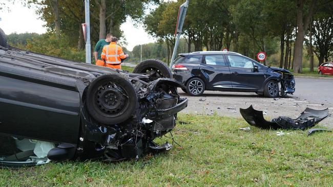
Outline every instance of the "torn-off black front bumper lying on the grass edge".
<svg viewBox="0 0 333 187">
<path fill-rule="evenodd" d="M 292 119 L 286 116 L 279 116 L 272 119 L 270 122 L 264 119 L 262 111 L 255 110 L 253 106 L 246 109 L 240 108 L 240 113 L 244 120 L 252 126 L 262 129 L 301 129 L 305 130 L 314 127 L 320 121 L 324 120 L 328 114 L 328 108 L 324 110 L 315 110 L 306 108 L 297 119 Z"/>
</svg>

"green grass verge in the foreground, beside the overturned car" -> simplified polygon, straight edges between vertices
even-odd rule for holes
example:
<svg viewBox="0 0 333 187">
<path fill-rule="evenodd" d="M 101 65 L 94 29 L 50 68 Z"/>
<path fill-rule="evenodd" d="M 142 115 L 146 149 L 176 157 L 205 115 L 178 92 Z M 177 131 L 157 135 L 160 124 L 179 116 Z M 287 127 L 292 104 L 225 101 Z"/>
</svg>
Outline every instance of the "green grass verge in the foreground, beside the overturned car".
<svg viewBox="0 0 333 187">
<path fill-rule="evenodd" d="M 239 130 L 248 124 L 223 116 L 179 114 L 182 145 L 159 155 L 118 163 L 49 163 L 1 169 L 0 186 L 331 186 L 331 133 Z M 168 140 L 168 138 L 163 138 Z M 169 138 L 170 141 L 170 138 Z"/>
</svg>

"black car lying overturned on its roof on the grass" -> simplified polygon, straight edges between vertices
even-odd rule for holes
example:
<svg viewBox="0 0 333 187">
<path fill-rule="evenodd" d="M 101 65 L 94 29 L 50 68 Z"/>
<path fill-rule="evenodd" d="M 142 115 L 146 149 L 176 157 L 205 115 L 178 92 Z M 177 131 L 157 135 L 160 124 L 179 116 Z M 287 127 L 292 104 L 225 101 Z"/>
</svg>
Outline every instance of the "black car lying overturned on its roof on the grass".
<svg viewBox="0 0 333 187">
<path fill-rule="evenodd" d="M 169 150 L 180 98 L 162 62 L 127 73 L 0 46 L 0 166 L 121 160 Z"/>
</svg>

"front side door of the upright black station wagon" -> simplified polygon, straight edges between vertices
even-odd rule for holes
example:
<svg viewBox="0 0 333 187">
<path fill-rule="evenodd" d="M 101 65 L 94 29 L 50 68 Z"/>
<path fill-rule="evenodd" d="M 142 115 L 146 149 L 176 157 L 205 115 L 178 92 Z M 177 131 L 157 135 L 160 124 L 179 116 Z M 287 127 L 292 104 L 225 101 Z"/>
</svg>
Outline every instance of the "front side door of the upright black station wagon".
<svg viewBox="0 0 333 187">
<path fill-rule="evenodd" d="M 258 65 L 258 71 L 255 71 L 255 62 L 252 59 L 232 54 L 225 56 L 230 65 L 233 89 L 256 90 L 262 87 L 264 72 Z"/>
</svg>

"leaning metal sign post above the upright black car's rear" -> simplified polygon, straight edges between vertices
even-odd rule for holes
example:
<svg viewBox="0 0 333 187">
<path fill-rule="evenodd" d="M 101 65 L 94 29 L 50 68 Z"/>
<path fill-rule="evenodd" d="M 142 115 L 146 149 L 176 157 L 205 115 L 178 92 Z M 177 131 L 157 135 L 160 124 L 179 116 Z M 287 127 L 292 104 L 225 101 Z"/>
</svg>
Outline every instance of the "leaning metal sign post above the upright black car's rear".
<svg viewBox="0 0 333 187">
<path fill-rule="evenodd" d="M 172 53 L 172 58 L 171 58 L 171 62 L 170 62 L 170 69 L 172 69 L 172 66 L 174 64 L 174 60 L 175 60 L 175 57 L 176 57 L 178 44 L 179 44 L 179 39 L 180 39 L 180 35 L 181 35 L 182 29 L 183 29 L 183 24 L 184 24 L 184 20 L 185 20 L 186 11 L 188 10 L 188 7 L 189 7 L 189 2 L 190 2 L 190 0 L 186 0 L 186 2 L 179 7 L 178 18 L 177 18 L 177 26 L 176 26 L 176 32 L 175 32 L 176 42 L 175 42 L 174 51 Z"/>
</svg>

